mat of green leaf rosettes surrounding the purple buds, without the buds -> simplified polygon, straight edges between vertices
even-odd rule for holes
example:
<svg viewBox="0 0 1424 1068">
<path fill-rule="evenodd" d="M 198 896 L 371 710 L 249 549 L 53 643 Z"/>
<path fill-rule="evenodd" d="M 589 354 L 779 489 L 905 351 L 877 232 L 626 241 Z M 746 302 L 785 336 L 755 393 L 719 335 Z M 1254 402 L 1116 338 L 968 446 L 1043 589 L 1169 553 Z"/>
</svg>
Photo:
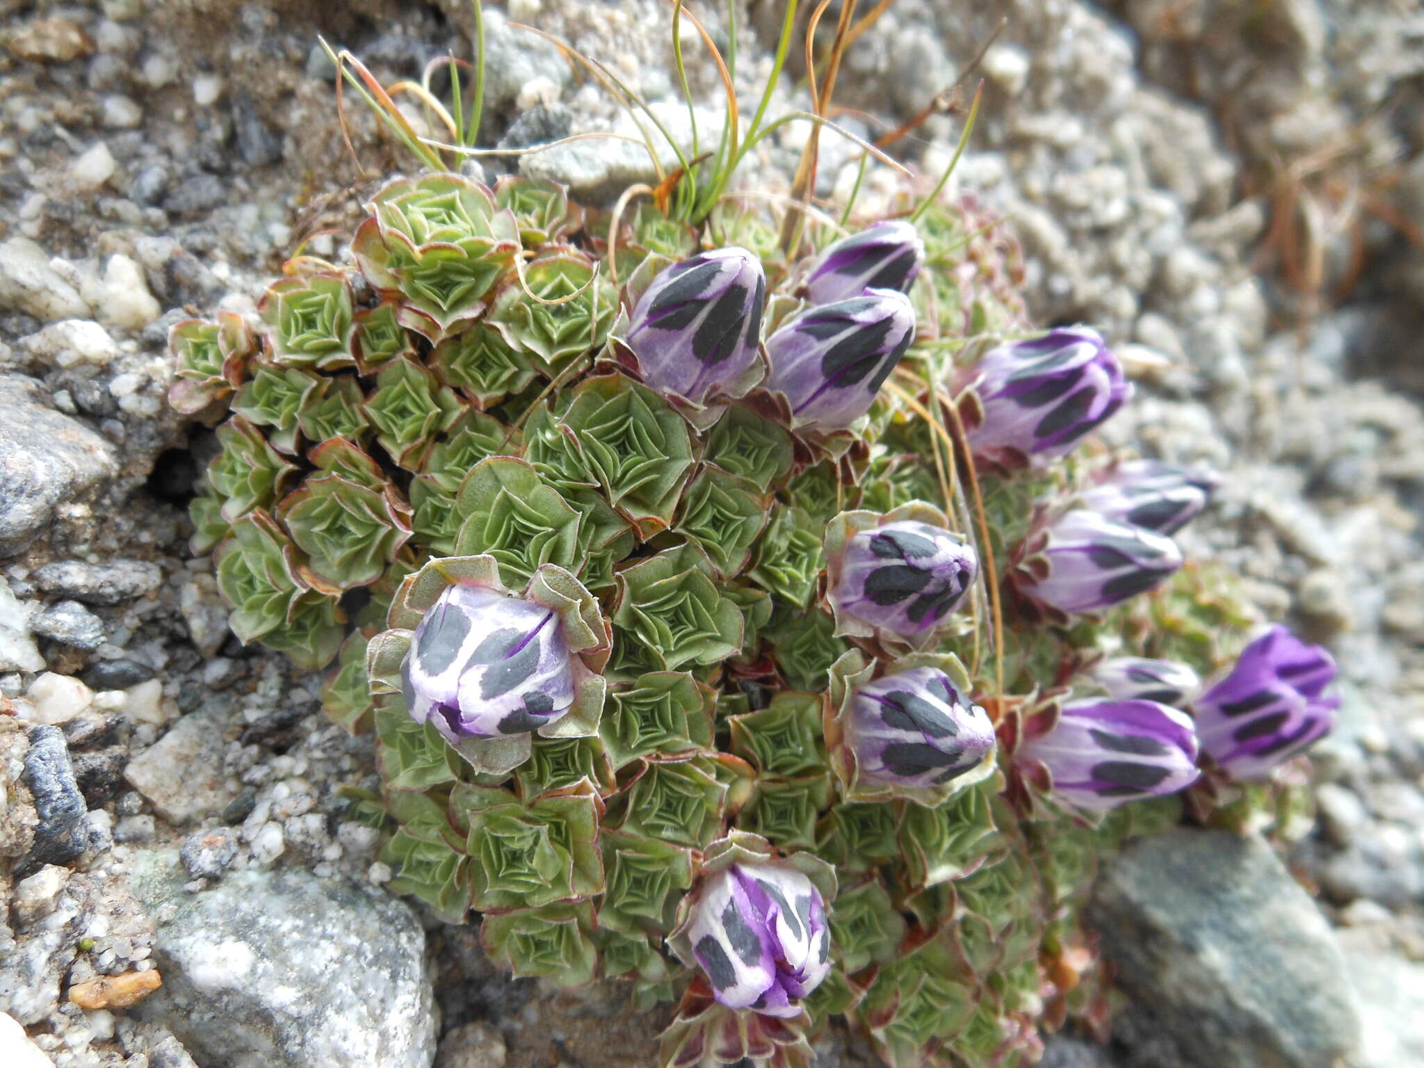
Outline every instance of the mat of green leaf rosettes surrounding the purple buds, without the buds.
<svg viewBox="0 0 1424 1068">
<path fill-rule="evenodd" d="M 488 953 L 518 975 L 622 977 L 651 1005 L 688 991 L 664 938 L 701 850 L 735 827 L 830 862 L 840 889 L 834 970 L 807 1015 L 762 1021 L 732 1059 L 803 1064 L 840 1014 L 896 1068 L 1027 1062 L 1041 1025 L 1101 1022 L 1087 887 L 1180 803 L 1095 824 L 1015 805 L 1001 773 L 937 807 L 852 802 L 823 736 L 827 669 L 852 648 L 824 607 L 823 535 L 849 508 L 931 501 L 975 541 L 985 581 L 934 652 L 967 665 L 1001 736 L 1105 634 L 1203 672 L 1239 644 L 1246 619 L 1193 567 L 1071 629 L 997 597 L 1035 503 L 1078 478 L 1071 457 L 975 473 L 956 449 L 954 367 L 1027 329 L 1011 242 L 928 205 L 916 343 L 862 429 L 817 443 L 755 393 L 695 426 L 635 380 L 619 330 L 662 265 L 740 245 L 763 262 L 769 333 L 833 225 L 809 222 L 787 256 L 762 208 L 726 202 L 693 229 L 651 202 L 617 218 L 554 184 L 454 174 L 393 181 L 369 211 L 350 263 L 292 261 L 256 322 L 175 328 L 172 400 L 226 416 L 192 518 L 234 631 L 306 668 L 336 659 L 328 715 L 375 729 L 383 789 L 355 795 L 386 833 L 392 887 L 450 923 L 483 913 Z M 611 628 L 597 733 L 534 738 L 507 775 L 471 768 L 399 693 L 373 701 L 367 678 L 402 580 L 477 555 L 511 588 L 567 570 Z M 685 995 L 669 1062 L 715 1062 L 678 1042 L 702 1010 Z"/>
</svg>

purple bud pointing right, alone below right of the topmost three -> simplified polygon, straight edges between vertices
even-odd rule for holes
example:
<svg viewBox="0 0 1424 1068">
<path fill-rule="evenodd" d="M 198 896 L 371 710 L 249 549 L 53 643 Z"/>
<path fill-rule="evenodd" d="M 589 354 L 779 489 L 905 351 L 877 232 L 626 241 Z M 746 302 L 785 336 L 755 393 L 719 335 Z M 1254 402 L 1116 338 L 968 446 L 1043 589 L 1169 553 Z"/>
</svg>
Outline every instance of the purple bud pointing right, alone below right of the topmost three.
<svg viewBox="0 0 1424 1068">
<path fill-rule="evenodd" d="M 998 463 L 1064 456 L 1132 396 L 1118 357 L 1087 326 L 1000 345 L 974 370 L 984 419 L 968 433 L 970 449 Z"/>
</svg>

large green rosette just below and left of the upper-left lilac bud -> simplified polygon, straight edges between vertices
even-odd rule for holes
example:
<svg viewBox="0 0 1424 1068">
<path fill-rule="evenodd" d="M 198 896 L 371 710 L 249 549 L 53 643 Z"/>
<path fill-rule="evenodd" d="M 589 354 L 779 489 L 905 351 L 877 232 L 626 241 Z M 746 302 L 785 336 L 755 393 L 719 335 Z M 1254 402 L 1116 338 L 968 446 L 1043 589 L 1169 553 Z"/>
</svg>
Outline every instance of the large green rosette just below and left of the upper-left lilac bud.
<svg viewBox="0 0 1424 1068">
<path fill-rule="evenodd" d="M 686 422 L 622 375 L 581 382 L 553 431 L 530 430 L 528 450 L 535 464 L 598 486 L 644 540 L 671 525 L 693 463 Z"/>
</svg>

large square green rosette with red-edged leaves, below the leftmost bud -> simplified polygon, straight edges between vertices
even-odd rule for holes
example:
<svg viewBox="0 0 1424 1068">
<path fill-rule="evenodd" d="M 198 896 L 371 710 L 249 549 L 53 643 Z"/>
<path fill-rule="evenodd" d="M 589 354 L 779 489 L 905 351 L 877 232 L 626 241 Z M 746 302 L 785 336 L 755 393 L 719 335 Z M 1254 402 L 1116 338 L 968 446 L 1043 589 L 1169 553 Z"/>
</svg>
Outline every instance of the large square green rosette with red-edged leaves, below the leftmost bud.
<svg viewBox="0 0 1424 1068">
<path fill-rule="evenodd" d="M 508 790 L 461 783 L 450 809 L 468 833 L 476 909 L 537 909 L 602 893 L 601 805 L 587 785 L 521 803 Z"/>
</svg>

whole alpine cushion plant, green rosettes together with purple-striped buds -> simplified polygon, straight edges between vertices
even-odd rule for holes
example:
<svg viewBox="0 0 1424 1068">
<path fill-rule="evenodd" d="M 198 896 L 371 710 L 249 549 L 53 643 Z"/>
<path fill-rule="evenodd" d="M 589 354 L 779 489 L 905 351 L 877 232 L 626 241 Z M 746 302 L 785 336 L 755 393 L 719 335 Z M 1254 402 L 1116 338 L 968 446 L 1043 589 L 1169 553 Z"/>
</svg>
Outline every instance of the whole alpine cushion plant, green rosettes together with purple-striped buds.
<svg viewBox="0 0 1424 1068">
<path fill-rule="evenodd" d="M 1027 1064 L 1101 1022 L 1099 859 L 1284 790 L 1333 666 L 1183 561 L 1215 478 L 1105 454 L 1122 369 L 1032 336 L 994 219 L 711 168 L 628 211 L 396 178 L 179 323 L 174 407 L 226 412 L 192 547 L 372 732 L 392 889 L 497 964 L 676 1001 L 664 1065 L 807 1065 L 834 1017 Z"/>
</svg>

